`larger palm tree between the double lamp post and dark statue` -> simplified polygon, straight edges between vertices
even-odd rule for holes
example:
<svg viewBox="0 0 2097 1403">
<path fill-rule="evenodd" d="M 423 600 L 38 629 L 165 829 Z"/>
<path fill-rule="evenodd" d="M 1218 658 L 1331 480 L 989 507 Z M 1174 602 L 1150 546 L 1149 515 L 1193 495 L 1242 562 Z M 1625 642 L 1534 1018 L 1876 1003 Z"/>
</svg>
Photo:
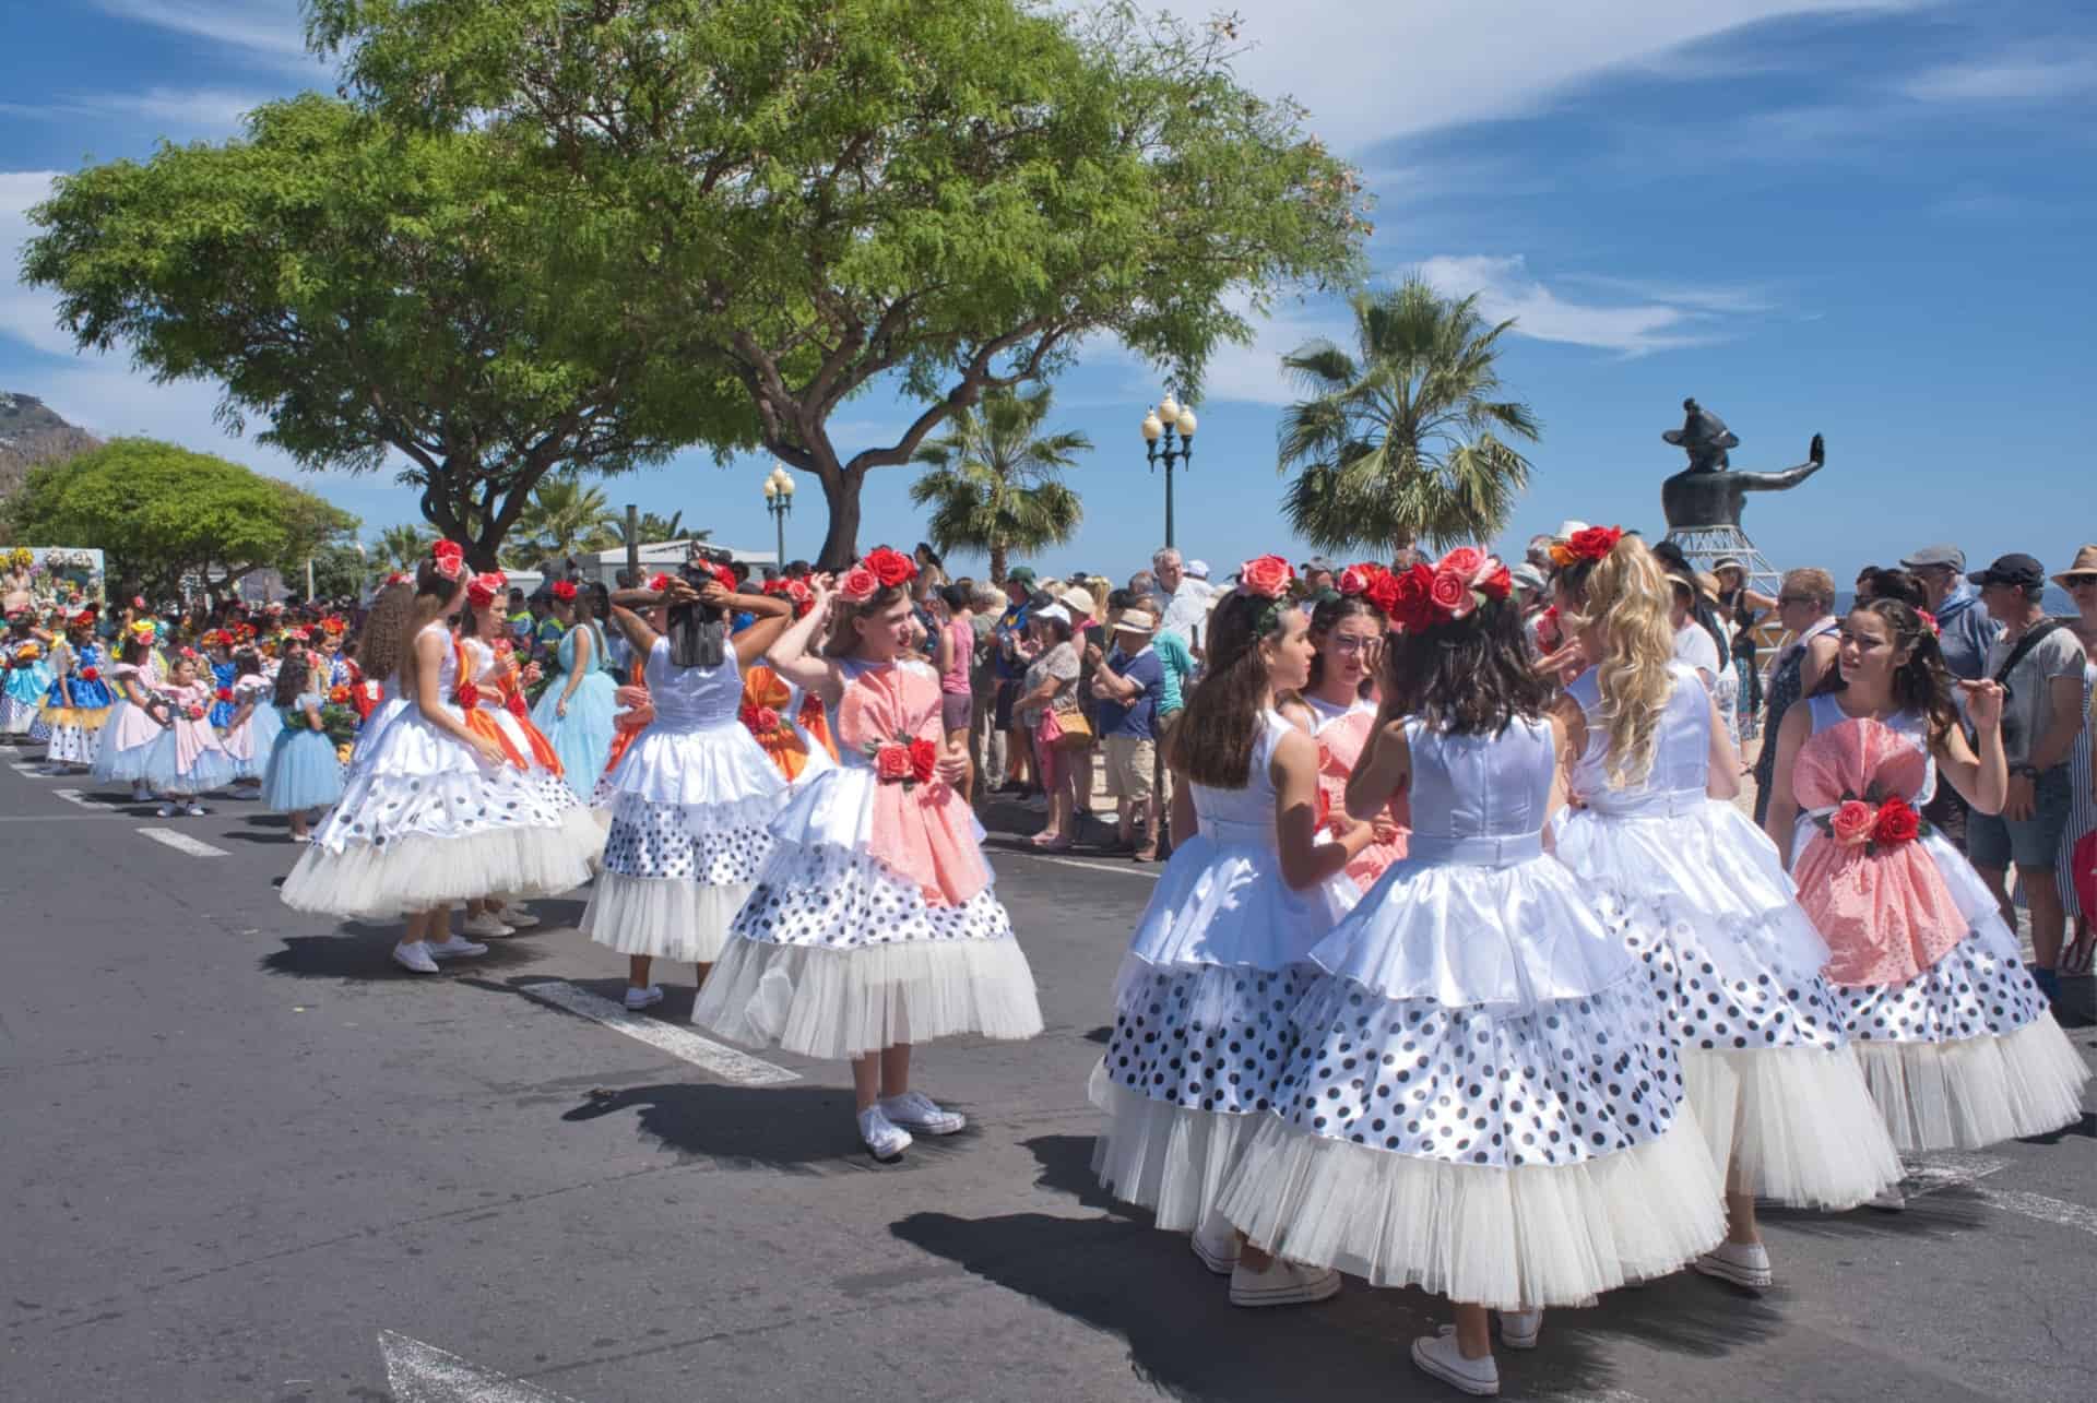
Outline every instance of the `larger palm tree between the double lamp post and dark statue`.
<svg viewBox="0 0 2097 1403">
<path fill-rule="evenodd" d="M 1279 428 L 1281 497 L 1296 535 L 1321 549 L 1405 549 L 1491 541 L 1529 487 L 1529 459 L 1501 438 L 1535 443 L 1529 405 L 1499 398 L 1499 338 L 1476 294 L 1449 300 L 1418 277 L 1357 294 L 1361 361 L 1332 342 L 1281 359 L 1311 398 Z"/>
</svg>

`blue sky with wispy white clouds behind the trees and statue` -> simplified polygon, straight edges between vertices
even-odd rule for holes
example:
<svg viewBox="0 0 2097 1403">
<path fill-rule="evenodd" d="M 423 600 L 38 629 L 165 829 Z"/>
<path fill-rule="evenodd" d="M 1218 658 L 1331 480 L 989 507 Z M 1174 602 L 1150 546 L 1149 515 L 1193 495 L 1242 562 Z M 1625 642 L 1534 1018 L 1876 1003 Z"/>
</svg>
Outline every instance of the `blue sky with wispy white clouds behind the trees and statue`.
<svg viewBox="0 0 2097 1403">
<path fill-rule="evenodd" d="M 243 109 L 331 73 L 302 55 L 294 0 L 71 0 L 8 6 L 0 50 L 0 254 L 50 172 L 216 141 Z M 1208 6 L 1181 6 L 1202 13 Z M 1378 195 L 1374 266 L 1424 271 L 1516 317 L 1504 373 L 1543 422 L 1535 480 L 1501 545 L 1577 516 L 1659 528 L 1659 440 L 1699 396 L 1780 468 L 1818 430 L 1829 470 L 1751 499 L 1778 564 L 1843 577 L 1923 541 L 2066 564 L 2097 537 L 2097 17 L 2078 0 L 1237 0 L 1241 75 L 1294 92 Z M 0 279 L 6 275 L 0 273 Z M 1290 300 L 1223 354 L 1202 396 L 1179 541 L 1220 570 L 1306 554 L 1277 524 L 1277 357 L 1342 336 Z M 212 419 L 210 384 L 153 386 L 75 357 L 50 300 L 0 281 L 0 390 L 99 432 L 147 432 L 296 474 Z M 1057 386 L 1095 451 L 1072 476 L 1078 541 L 1051 568 L 1126 575 L 1162 533 L 1137 424 L 1162 386 L 1097 344 Z M 887 443 L 910 407 L 862 398 L 835 436 Z M 705 453 L 608 482 L 770 547 L 763 459 Z M 862 545 L 908 543 L 912 470 L 868 482 Z M 367 522 L 415 514 L 386 478 L 306 478 Z M 803 480 L 788 554 L 814 554 Z M 963 562 L 969 564 L 969 562 Z"/>
</svg>

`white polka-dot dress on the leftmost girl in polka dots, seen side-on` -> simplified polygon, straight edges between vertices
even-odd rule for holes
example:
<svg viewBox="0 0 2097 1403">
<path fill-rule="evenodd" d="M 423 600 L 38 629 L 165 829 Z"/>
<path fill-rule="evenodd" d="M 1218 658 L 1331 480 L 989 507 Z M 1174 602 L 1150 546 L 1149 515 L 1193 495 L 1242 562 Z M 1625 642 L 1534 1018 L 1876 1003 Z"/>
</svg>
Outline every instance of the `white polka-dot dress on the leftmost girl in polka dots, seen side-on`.
<svg viewBox="0 0 2097 1403">
<path fill-rule="evenodd" d="M 438 694 L 459 719 L 457 648 L 442 621 L 426 633 L 445 642 Z M 348 921 L 390 921 L 491 891 L 554 895 L 589 881 L 600 843 L 572 795 L 556 803 L 531 772 L 491 765 L 403 700 L 352 761 L 342 801 L 281 895 L 294 910 Z"/>
</svg>

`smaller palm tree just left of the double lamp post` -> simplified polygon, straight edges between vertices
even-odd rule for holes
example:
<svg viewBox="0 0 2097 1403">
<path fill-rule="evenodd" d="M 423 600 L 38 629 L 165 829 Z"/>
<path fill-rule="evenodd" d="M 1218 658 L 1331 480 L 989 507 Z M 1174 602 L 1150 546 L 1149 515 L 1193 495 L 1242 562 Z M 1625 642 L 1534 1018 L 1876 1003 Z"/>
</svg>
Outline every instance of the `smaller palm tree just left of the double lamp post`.
<svg viewBox="0 0 2097 1403">
<path fill-rule="evenodd" d="M 1090 451 L 1093 440 L 1040 436 L 1053 398 L 1048 386 L 1032 394 L 990 390 L 981 405 L 948 422 L 946 436 L 916 453 L 927 472 L 910 484 L 910 501 L 931 508 L 933 545 L 986 552 L 994 585 L 1004 583 L 1009 552 L 1061 545 L 1084 518 L 1084 503 L 1061 474 L 1076 468 L 1076 455 Z"/>
</svg>

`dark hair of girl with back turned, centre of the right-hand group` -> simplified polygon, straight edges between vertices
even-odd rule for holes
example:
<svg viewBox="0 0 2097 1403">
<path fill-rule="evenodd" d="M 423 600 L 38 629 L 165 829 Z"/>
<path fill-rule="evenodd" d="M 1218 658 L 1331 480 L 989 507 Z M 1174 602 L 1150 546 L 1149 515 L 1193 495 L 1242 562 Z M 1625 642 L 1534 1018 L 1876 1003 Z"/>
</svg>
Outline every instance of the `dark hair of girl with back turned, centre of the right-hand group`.
<svg viewBox="0 0 2097 1403">
<path fill-rule="evenodd" d="M 1384 644 L 1380 721 L 1418 715 L 1451 736 L 1497 736 L 1516 717 L 1535 721 L 1550 705 L 1550 684 L 1529 667 L 1514 600 L 1480 604 L 1468 619 L 1420 633 L 1405 629 Z"/>
</svg>

